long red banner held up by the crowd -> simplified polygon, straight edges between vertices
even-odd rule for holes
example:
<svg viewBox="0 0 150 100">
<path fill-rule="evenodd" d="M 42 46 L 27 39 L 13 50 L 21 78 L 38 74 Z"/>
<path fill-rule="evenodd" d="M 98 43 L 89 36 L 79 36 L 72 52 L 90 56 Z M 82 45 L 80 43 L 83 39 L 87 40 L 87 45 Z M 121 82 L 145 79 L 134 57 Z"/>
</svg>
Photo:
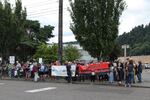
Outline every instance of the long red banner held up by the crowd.
<svg viewBox="0 0 150 100">
<path fill-rule="evenodd" d="M 80 74 L 90 74 L 91 72 L 100 73 L 109 71 L 109 62 L 99 62 L 88 64 L 87 66 L 79 65 Z"/>
</svg>

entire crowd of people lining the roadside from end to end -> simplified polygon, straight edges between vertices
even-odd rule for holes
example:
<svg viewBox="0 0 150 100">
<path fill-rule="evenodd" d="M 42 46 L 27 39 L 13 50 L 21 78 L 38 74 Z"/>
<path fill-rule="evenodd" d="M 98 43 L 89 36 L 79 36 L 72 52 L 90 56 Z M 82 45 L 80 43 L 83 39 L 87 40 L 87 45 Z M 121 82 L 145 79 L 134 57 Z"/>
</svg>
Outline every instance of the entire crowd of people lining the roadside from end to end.
<svg viewBox="0 0 150 100">
<path fill-rule="evenodd" d="M 76 65 L 75 76 L 72 76 L 71 65 Z M 106 73 L 95 73 L 94 71 L 90 74 L 80 74 L 79 73 L 79 64 L 81 63 L 71 63 L 66 62 L 67 70 L 67 80 L 68 83 L 71 81 L 85 81 L 91 80 L 91 82 L 95 82 L 95 80 L 101 81 L 109 81 L 109 83 L 118 82 L 118 84 L 125 83 L 126 87 L 131 87 L 132 84 L 138 80 L 139 83 L 142 82 L 142 63 L 139 61 L 138 63 L 134 62 L 132 59 L 127 59 L 126 62 L 110 62 L 109 64 L 109 72 Z M 82 63 L 83 64 L 83 63 Z M 25 80 L 34 80 L 34 81 L 45 81 L 45 79 L 55 80 L 57 77 L 51 75 L 51 66 L 60 65 L 58 61 L 51 62 L 48 64 L 37 63 L 37 62 L 19 62 L 16 61 L 14 64 L 10 63 L 2 63 L 0 62 L 0 76 L 1 79 L 6 78 L 24 78 Z M 136 78 L 137 76 L 137 78 Z"/>
</svg>

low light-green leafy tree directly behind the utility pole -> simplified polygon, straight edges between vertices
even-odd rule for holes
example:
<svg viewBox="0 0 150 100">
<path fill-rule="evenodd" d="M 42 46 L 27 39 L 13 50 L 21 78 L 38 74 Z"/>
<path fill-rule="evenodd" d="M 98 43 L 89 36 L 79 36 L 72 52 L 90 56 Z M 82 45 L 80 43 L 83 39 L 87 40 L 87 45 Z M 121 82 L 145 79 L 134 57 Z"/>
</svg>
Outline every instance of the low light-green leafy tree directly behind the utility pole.
<svg viewBox="0 0 150 100">
<path fill-rule="evenodd" d="M 75 46 L 64 46 L 63 61 L 74 61 L 80 58 L 80 53 Z M 45 62 L 58 60 L 58 44 L 47 45 L 42 43 L 37 47 L 34 58 L 43 58 Z"/>
</svg>

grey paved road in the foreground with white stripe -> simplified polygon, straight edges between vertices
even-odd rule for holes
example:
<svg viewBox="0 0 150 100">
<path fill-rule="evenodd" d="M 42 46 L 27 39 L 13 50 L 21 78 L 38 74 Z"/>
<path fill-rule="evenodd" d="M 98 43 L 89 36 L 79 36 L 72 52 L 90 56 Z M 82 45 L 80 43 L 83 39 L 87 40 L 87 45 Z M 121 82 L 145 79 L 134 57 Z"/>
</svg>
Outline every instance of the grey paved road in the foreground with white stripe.
<svg viewBox="0 0 150 100">
<path fill-rule="evenodd" d="M 150 89 L 0 80 L 0 100 L 150 100 Z"/>
</svg>

